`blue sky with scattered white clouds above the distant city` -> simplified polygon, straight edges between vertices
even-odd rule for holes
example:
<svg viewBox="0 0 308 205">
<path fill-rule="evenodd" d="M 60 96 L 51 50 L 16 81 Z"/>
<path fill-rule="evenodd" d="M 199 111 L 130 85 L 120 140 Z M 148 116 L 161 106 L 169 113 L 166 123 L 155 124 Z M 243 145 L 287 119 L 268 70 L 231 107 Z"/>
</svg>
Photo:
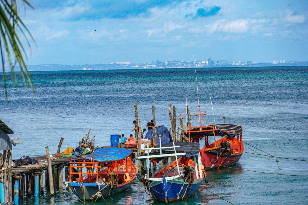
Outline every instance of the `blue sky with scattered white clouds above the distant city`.
<svg viewBox="0 0 308 205">
<path fill-rule="evenodd" d="M 29 2 L 29 65 L 308 60 L 308 1 Z"/>
</svg>

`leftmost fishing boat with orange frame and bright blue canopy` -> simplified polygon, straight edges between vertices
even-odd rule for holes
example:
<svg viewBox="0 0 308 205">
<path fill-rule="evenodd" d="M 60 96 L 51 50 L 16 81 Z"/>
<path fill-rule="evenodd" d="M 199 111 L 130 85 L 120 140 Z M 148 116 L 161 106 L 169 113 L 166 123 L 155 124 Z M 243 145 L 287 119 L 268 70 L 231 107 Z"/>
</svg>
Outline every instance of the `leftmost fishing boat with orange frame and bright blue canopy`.
<svg viewBox="0 0 308 205">
<path fill-rule="evenodd" d="M 68 187 L 81 201 L 96 201 L 128 190 L 136 173 L 132 150 L 101 148 L 91 155 L 70 161 Z"/>
</svg>

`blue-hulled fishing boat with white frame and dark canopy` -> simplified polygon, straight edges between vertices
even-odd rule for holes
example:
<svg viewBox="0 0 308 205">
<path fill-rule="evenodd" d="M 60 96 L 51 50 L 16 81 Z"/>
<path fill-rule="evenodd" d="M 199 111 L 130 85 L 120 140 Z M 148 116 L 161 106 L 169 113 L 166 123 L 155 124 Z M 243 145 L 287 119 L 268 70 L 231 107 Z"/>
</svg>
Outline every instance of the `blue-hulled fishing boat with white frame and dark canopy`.
<svg viewBox="0 0 308 205">
<path fill-rule="evenodd" d="M 207 183 L 199 143 L 172 142 L 145 150 L 138 158 L 145 167 L 141 180 L 157 201 L 170 203 L 186 199 L 197 192 L 204 178 Z M 176 160 L 168 163 L 170 158 Z"/>
</svg>

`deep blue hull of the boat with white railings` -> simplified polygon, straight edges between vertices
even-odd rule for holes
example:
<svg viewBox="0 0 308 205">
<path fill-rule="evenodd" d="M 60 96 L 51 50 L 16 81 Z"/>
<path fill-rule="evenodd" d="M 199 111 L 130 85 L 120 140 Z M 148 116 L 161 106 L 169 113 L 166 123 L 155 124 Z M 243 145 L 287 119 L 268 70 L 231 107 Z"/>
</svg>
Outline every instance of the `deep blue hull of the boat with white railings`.
<svg viewBox="0 0 308 205">
<path fill-rule="evenodd" d="M 203 178 L 197 179 L 192 183 L 184 182 L 184 179 L 166 180 L 165 186 L 162 181 L 158 181 L 150 183 L 147 189 L 150 189 L 157 201 L 171 203 L 193 196 L 202 180 Z M 179 198 L 177 198 L 177 194 L 179 194 Z"/>
</svg>

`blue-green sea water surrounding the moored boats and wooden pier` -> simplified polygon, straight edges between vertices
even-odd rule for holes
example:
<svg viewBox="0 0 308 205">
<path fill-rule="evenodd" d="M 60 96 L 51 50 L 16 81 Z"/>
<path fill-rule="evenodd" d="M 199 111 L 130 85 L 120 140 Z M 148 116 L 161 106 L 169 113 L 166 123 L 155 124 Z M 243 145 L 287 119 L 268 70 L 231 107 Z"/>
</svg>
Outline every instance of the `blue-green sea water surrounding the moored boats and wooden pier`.
<svg viewBox="0 0 308 205">
<path fill-rule="evenodd" d="M 9 84 L 6 104 L 3 85 L 0 89 L 0 119 L 12 128 L 12 137 L 19 137 L 16 141 L 24 142 L 13 148 L 13 159 L 43 155 L 45 146 L 55 153 L 61 137 L 62 150 L 77 147 L 79 138 L 89 129 L 96 145 L 109 145 L 111 134 L 131 134 L 134 102 L 138 102 L 142 128 L 152 119 L 152 105 L 157 124 L 167 127 L 171 126 L 169 103 L 176 106 L 177 125 L 179 114 L 185 116 L 185 98 L 190 112 L 193 114 L 194 107 L 197 111 L 194 69 L 30 74 L 37 97 L 29 88 L 20 86 L 17 90 Z M 308 67 L 206 68 L 197 69 L 197 76 L 201 111 L 208 113 L 202 116 L 203 124 L 213 122 L 211 96 L 216 123 L 222 123 L 225 116 L 226 123 L 243 126 L 244 142 L 271 155 L 308 159 Z M 196 121 L 192 117 L 193 125 Z M 254 152 L 245 144 L 244 149 Z M 274 158 L 244 153 L 234 166 L 237 169 L 208 171 L 208 184 L 203 183 L 194 197 L 174 204 L 227 203 L 209 191 L 233 204 L 307 204 L 308 162 L 278 160 L 281 170 Z M 50 198 L 45 192 L 38 198 L 25 197 L 20 204 L 81 204 L 74 197 L 70 199 L 67 192 L 63 196 L 57 191 Z M 137 180 L 128 191 L 112 199 L 107 202 L 149 204 L 149 196 Z"/>
</svg>

